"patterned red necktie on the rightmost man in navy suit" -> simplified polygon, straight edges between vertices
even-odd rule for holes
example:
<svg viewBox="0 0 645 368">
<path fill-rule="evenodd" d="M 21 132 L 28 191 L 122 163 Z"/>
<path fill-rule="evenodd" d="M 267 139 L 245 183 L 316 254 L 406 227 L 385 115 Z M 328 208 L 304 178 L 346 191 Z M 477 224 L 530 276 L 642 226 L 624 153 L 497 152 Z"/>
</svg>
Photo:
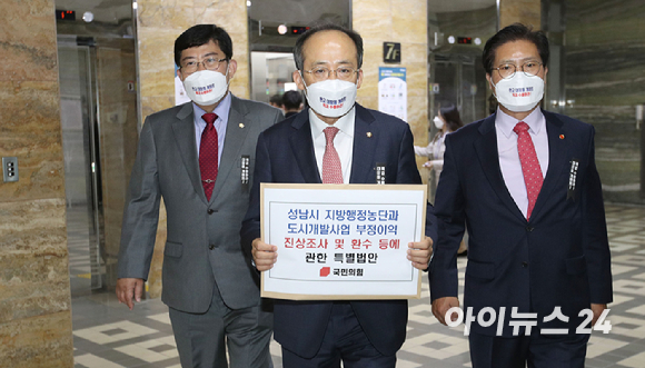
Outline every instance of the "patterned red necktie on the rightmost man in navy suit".
<svg viewBox="0 0 645 368">
<path fill-rule="evenodd" d="M 513 128 L 513 131 L 517 133 L 517 152 L 519 153 L 522 173 L 524 175 L 526 195 L 528 196 L 528 209 L 526 210 L 526 219 L 528 220 L 542 189 L 544 178 L 537 160 L 537 153 L 535 153 L 535 146 L 533 146 L 533 140 L 528 133 L 528 125 L 520 121 Z"/>
</svg>

